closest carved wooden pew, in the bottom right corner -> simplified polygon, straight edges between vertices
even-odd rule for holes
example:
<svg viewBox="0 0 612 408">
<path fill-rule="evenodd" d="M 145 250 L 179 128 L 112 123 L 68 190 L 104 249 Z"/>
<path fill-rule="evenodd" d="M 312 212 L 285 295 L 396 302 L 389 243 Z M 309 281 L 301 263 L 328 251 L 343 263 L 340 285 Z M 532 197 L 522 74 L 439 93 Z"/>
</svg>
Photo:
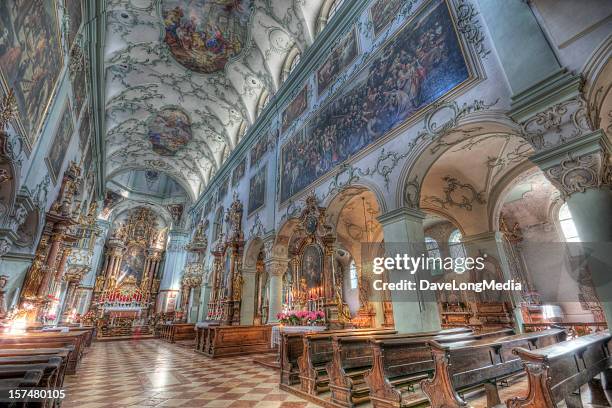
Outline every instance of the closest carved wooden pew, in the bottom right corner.
<svg viewBox="0 0 612 408">
<path fill-rule="evenodd" d="M 610 406 L 605 398 L 601 384 L 592 381 L 602 373 L 608 380 L 607 389 L 612 389 L 612 357 L 610 332 L 598 332 L 574 340 L 550 345 L 537 350 L 516 348 L 520 357 L 529 390 L 525 397 L 515 397 L 506 401 L 508 408 L 554 408 L 565 401 L 568 408 L 582 407 L 580 394 L 575 394 L 584 384 L 589 384 L 591 396 L 599 401 L 593 405 Z"/>
</svg>

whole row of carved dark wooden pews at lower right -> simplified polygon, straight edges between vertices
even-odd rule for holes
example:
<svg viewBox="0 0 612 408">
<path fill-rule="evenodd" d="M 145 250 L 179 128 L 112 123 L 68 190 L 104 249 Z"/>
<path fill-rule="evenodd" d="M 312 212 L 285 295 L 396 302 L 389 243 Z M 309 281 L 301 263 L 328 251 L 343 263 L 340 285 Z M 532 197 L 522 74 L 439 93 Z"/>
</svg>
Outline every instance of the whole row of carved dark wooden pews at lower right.
<svg viewBox="0 0 612 408">
<path fill-rule="evenodd" d="M 325 393 L 328 405 L 339 407 L 369 401 L 374 408 L 459 408 L 470 405 L 466 395 L 482 390 L 487 407 L 495 407 L 502 405 L 498 386 L 527 373 L 529 390 L 508 400 L 508 408 L 554 407 L 562 400 L 574 408 L 581 406 L 574 392 L 583 384 L 605 400 L 601 383 L 592 380 L 603 372 L 611 380 L 604 386 L 612 387 L 610 346 L 608 332 L 566 341 L 561 328 L 283 333 L 280 383 L 315 399 Z"/>
</svg>

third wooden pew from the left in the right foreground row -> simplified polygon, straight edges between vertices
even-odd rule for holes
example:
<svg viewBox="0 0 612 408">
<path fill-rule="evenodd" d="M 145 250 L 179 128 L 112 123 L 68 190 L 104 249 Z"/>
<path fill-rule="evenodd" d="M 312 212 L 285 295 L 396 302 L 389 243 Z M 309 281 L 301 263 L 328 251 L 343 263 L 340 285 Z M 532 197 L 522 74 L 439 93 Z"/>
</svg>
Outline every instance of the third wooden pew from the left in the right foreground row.
<svg viewBox="0 0 612 408">
<path fill-rule="evenodd" d="M 450 341 L 457 339 L 476 338 L 468 327 L 457 327 L 432 332 L 403 333 L 403 334 L 379 334 L 374 336 L 334 336 L 332 340 L 333 357 L 327 365 L 329 375 L 329 387 L 331 400 L 344 406 L 369 401 L 369 389 L 364 381 L 364 376 L 372 368 L 372 339 L 422 339 L 426 342 L 430 339 L 449 338 Z"/>
</svg>

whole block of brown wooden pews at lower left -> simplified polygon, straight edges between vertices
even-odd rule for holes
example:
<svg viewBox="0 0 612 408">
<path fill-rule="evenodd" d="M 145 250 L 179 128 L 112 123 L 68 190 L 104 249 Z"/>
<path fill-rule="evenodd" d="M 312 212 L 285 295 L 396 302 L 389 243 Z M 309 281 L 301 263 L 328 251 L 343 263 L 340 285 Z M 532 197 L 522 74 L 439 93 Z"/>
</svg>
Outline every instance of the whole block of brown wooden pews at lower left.
<svg viewBox="0 0 612 408">
<path fill-rule="evenodd" d="M 0 393 L 23 388 L 62 388 L 66 374 L 76 374 L 93 327 L 68 331 L 27 331 L 0 334 Z M 20 402 L 16 406 L 54 407 L 61 399 Z M 0 403 L 1 404 L 1 403 Z"/>
</svg>

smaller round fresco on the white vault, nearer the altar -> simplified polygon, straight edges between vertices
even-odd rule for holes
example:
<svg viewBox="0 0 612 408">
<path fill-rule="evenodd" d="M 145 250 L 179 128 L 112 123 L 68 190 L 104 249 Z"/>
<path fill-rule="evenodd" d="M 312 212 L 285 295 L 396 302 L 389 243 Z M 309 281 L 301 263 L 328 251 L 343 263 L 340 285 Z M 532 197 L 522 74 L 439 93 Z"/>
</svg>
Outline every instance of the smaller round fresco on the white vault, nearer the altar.
<svg viewBox="0 0 612 408">
<path fill-rule="evenodd" d="M 175 156 L 191 139 L 191 120 L 179 109 L 164 109 L 150 120 L 149 142 L 160 156 Z"/>
</svg>

